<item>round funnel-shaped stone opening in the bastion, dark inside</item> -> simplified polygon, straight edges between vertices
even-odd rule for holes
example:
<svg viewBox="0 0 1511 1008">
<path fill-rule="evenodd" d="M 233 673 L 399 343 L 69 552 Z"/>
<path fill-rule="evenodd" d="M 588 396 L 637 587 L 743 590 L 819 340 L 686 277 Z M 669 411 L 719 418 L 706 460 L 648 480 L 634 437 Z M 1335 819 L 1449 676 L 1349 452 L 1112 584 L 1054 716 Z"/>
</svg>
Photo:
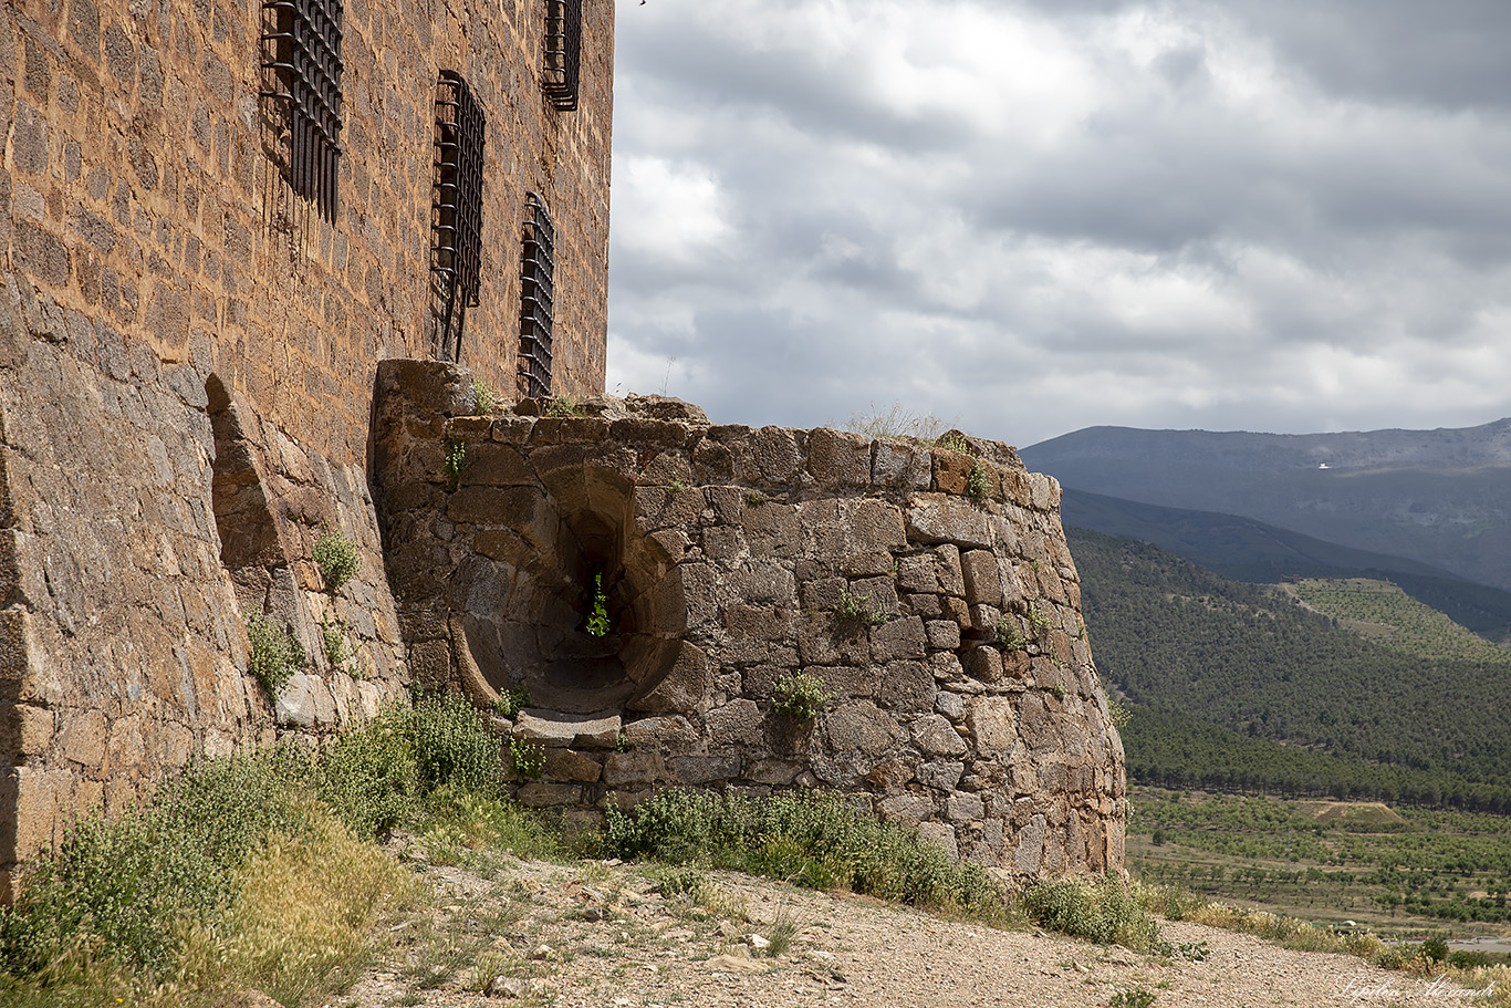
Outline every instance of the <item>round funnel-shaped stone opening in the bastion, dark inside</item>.
<svg viewBox="0 0 1511 1008">
<path fill-rule="evenodd" d="M 482 490 L 482 488 L 479 488 Z M 562 713 L 654 709 L 686 630 L 680 574 L 635 523 L 635 482 L 607 465 L 564 465 L 476 502 L 471 556 L 452 580 L 452 645 L 488 700 L 523 686 Z M 589 632 L 601 585 L 607 633 Z"/>
</svg>

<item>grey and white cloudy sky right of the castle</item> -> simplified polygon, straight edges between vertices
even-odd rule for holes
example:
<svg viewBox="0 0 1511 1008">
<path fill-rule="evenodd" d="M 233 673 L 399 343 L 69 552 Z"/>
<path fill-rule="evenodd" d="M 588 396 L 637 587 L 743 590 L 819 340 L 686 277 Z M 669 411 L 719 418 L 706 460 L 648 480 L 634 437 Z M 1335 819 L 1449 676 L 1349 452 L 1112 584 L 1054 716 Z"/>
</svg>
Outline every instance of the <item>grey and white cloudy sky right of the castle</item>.
<svg viewBox="0 0 1511 1008">
<path fill-rule="evenodd" d="M 620 0 L 609 390 L 1012 444 L 1511 414 L 1505 0 Z"/>
</svg>

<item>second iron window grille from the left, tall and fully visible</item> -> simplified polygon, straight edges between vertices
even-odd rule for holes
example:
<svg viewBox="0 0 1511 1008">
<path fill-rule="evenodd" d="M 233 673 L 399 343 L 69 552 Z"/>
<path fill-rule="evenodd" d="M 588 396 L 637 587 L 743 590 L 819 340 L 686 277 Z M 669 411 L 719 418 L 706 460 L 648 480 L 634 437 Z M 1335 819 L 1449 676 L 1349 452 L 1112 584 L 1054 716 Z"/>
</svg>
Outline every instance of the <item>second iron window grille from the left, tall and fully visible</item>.
<svg viewBox="0 0 1511 1008">
<path fill-rule="evenodd" d="M 435 190 L 431 271 L 440 289 L 437 311 L 441 355 L 461 361 L 467 308 L 477 304 L 482 255 L 482 147 L 487 118 L 467 82 L 441 71 L 435 95 Z"/>
</svg>

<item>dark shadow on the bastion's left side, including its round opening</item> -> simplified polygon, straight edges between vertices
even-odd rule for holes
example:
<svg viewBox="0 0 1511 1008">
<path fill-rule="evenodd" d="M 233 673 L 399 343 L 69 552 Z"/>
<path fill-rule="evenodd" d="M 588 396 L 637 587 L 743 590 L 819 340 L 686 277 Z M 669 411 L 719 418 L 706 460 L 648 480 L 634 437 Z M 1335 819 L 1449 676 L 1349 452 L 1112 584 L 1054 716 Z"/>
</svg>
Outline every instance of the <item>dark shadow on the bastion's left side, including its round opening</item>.
<svg viewBox="0 0 1511 1008">
<path fill-rule="evenodd" d="M 440 361 L 378 372 L 375 485 L 417 682 L 459 677 L 484 706 L 524 688 L 567 715 L 666 709 L 657 689 L 689 647 L 688 612 L 666 549 L 638 530 L 627 449 L 553 443 L 526 459 L 490 431 L 533 422 L 471 416 L 462 375 Z"/>
</svg>

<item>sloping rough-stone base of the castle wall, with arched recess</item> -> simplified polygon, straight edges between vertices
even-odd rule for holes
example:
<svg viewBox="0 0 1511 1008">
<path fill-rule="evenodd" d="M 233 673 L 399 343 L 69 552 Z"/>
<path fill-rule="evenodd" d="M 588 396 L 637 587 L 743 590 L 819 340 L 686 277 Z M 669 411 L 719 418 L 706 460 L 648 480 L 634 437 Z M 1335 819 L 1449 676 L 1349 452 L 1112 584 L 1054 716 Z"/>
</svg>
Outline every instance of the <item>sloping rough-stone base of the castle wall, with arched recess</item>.
<svg viewBox="0 0 1511 1008">
<path fill-rule="evenodd" d="M 408 682 L 376 515 L 329 464 L 103 323 L 0 277 L 0 902 L 79 815 L 125 807 L 196 754 L 370 716 Z M 322 526 L 363 564 L 326 591 Z M 243 614 L 310 666 L 277 706 Z M 332 666 L 320 620 L 354 657 Z"/>
</svg>

